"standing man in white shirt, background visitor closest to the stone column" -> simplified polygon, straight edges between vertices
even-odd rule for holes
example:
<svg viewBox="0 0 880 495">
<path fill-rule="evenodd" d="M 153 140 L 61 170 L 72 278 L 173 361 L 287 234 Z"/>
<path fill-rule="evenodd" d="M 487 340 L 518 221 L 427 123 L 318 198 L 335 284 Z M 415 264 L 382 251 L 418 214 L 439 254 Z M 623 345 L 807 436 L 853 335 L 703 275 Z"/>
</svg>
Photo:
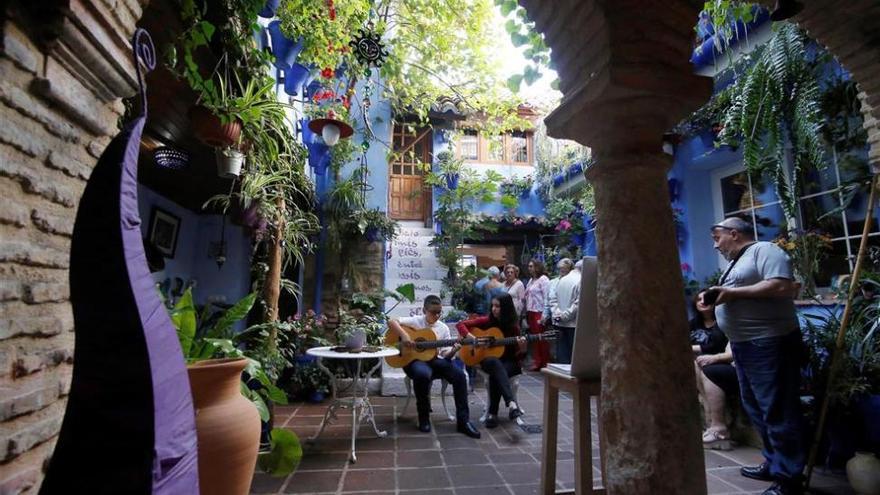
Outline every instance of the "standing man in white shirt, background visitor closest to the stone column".
<svg viewBox="0 0 880 495">
<path fill-rule="evenodd" d="M 581 271 L 568 258 L 559 260 L 557 267 L 560 279 L 556 284 L 554 291 L 556 297 L 550 308 L 553 326 L 559 330 L 556 338 L 556 361 L 571 364 L 574 331 L 577 327 L 577 308 L 581 299 Z"/>
</svg>

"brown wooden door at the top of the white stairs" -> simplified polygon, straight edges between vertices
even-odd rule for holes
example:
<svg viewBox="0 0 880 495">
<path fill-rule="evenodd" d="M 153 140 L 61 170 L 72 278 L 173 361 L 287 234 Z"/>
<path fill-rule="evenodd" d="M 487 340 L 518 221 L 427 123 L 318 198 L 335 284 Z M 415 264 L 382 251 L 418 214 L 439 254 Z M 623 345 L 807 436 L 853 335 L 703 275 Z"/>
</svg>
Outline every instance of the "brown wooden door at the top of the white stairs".
<svg viewBox="0 0 880 495">
<path fill-rule="evenodd" d="M 395 220 L 423 220 L 430 191 L 422 180 L 430 163 L 431 130 L 394 124 L 394 155 L 389 166 L 388 216 Z"/>
</svg>

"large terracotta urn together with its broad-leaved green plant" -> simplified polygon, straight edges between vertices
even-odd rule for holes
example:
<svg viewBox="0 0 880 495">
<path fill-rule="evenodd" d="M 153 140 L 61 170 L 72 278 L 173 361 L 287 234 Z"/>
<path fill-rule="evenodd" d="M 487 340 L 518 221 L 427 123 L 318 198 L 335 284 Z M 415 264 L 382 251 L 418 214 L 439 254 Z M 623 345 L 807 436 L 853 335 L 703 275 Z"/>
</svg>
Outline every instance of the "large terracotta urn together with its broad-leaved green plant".
<svg viewBox="0 0 880 495">
<path fill-rule="evenodd" d="M 271 365 L 264 365 L 268 360 L 258 349 L 241 349 L 248 336 L 262 328 L 251 327 L 238 334 L 233 330 L 255 299 L 256 295 L 250 294 L 226 310 L 197 312 L 188 289 L 171 312 L 188 363 L 196 408 L 200 484 L 211 493 L 222 493 L 221 487 L 239 487 L 241 493 L 248 490 L 259 449 L 260 423 L 269 421 L 271 404 L 287 403 L 286 395 L 270 377 Z M 247 381 L 243 381 L 243 373 Z M 230 422 L 237 424 L 234 435 L 229 433 Z M 296 468 L 301 449 L 298 440 L 276 430 L 268 432 L 269 459 L 261 459 L 261 466 L 274 475 L 286 476 Z"/>
</svg>

